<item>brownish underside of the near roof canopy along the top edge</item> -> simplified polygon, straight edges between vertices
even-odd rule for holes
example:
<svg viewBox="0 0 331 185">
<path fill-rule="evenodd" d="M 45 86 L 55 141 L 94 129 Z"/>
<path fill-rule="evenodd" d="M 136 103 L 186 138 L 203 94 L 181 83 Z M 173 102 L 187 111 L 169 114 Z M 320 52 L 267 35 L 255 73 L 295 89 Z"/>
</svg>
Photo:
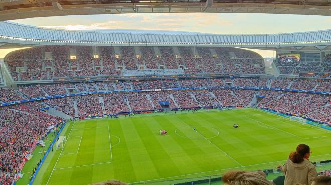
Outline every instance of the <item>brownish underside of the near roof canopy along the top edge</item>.
<svg viewBox="0 0 331 185">
<path fill-rule="evenodd" d="M 0 0 L 0 21 L 122 13 L 270 13 L 331 16 L 330 0 Z"/>
</svg>

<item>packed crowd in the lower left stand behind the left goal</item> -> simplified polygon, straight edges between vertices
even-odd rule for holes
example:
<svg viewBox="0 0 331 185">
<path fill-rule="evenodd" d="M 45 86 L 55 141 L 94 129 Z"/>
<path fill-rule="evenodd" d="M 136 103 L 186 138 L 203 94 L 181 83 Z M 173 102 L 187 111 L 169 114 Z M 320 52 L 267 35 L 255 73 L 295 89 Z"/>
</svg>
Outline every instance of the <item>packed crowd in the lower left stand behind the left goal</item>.
<svg viewBox="0 0 331 185">
<path fill-rule="evenodd" d="M 57 125 L 61 119 L 44 113 L 27 113 L 12 107 L 0 108 L 0 184 L 16 181 L 26 152 L 30 152 L 47 127 Z"/>
</svg>

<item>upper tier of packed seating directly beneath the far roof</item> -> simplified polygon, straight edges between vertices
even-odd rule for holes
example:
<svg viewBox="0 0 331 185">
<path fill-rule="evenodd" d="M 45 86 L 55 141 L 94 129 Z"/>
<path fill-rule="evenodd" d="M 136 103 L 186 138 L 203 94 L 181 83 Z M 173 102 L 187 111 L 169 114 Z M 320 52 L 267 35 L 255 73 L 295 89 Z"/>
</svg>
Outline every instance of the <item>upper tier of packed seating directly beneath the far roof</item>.
<svg viewBox="0 0 331 185">
<path fill-rule="evenodd" d="M 131 46 L 118 47 L 116 52 L 120 53 L 116 54 L 111 46 L 96 48 L 97 53 L 93 53 L 91 46 L 41 46 L 11 52 L 5 57 L 5 63 L 14 81 L 104 75 L 132 76 L 134 74 L 131 74 L 130 70 L 141 70 L 141 67 L 144 71 L 135 71 L 136 75 L 261 74 L 264 71 L 261 69 L 264 67 L 261 56 L 238 48 L 158 47 L 161 55 L 157 56 L 158 58 L 153 47 L 138 47 L 141 58 L 137 58 L 137 51 Z M 98 57 L 94 58 L 95 55 Z M 116 58 L 115 55 L 119 57 Z M 121 73 L 121 70 L 126 72 Z"/>
</svg>

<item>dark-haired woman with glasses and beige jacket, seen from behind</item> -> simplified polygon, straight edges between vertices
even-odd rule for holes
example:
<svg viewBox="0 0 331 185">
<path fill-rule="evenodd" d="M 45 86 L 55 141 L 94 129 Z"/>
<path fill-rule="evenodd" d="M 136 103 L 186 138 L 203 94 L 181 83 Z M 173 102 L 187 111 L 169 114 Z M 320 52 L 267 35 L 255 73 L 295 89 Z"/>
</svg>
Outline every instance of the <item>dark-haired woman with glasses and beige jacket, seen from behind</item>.
<svg viewBox="0 0 331 185">
<path fill-rule="evenodd" d="M 296 151 L 289 155 L 284 166 L 284 185 L 311 185 L 313 179 L 317 176 L 315 165 L 309 161 L 311 153 L 309 146 L 299 144 Z"/>
</svg>

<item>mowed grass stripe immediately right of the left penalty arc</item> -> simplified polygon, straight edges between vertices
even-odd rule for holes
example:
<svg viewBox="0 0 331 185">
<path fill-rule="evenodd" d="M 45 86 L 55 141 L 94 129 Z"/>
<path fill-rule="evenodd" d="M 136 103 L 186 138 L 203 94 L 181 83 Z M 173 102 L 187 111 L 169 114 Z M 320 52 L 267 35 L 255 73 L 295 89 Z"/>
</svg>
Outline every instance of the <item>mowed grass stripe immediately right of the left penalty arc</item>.
<svg viewBox="0 0 331 185">
<path fill-rule="evenodd" d="M 135 169 L 132 172 L 135 173 L 137 180 L 145 179 L 147 174 L 149 179 L 160 178 L 153 161 L 141 141 L 138 131 L 133 125 L 133 121 L 134 119 L 120 119 L 124 138 L 129 148 L 128 153 L 132 166 Z"/>
</svg>

